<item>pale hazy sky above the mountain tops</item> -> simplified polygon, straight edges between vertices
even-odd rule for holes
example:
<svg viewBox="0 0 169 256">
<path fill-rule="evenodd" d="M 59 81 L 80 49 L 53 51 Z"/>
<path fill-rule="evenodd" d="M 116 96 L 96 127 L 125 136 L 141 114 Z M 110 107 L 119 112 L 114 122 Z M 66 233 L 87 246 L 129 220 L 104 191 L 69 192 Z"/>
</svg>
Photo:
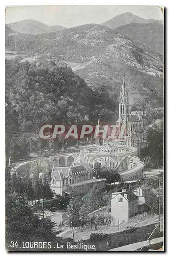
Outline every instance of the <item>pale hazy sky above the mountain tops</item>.
<svg viewBox="0 0 169 256">
<path fill-rule="evenodd" d="M 36 19 L 50 26 L 73 27 L 100 24 L 124 12 L 132 12 L 146 19 L 163 18 L 160 8 L 156 6 L 15 6 L 7 7 L 6 23 Z"/>
</svg>

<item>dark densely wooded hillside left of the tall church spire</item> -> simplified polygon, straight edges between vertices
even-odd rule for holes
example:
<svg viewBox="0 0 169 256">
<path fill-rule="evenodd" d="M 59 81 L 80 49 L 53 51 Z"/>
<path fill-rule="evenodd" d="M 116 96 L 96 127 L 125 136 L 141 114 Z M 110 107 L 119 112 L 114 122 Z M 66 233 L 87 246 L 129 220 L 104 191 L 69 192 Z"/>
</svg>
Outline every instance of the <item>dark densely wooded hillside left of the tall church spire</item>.
<svg viewBox="0 0 169 256">
<path fill-rule="evenodd" d="M 108 90 L 92 90 L 61 61 L 6 60 L 7 159 L 43 149 L 38 132 L 45 123 L 96 124 L 98 113 L 111 118 L 114 110 Z"/>
</svg>

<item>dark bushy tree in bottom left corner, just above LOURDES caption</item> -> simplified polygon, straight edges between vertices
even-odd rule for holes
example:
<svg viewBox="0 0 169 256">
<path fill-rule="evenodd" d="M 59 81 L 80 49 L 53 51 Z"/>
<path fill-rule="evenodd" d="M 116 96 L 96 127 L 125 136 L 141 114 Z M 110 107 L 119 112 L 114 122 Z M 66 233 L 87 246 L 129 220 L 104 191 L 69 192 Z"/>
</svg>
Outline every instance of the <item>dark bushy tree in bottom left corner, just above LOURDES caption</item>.
<svg viewBox="0 0 169 256">
<path fill-rule="evenodd" d="M 23 197 L 6 198 L 6 242 L 54 241 L 54 222 L 34 216 Z"/>
</svg>

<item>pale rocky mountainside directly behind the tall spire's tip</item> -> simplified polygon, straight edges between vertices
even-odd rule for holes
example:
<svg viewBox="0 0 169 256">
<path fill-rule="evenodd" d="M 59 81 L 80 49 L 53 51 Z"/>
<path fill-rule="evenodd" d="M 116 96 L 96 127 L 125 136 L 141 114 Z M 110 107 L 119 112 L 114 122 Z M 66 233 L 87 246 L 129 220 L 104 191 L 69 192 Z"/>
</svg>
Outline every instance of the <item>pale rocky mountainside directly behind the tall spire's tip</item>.
<svg viewBox="0 0 169 256">
<path fill-rule="evenodd" d="M 31 61 L 34 58 L 65 61 L 93 90 L 102 87 L 109 90 L 110 97 L 117 98 L 117 104 L 124 73 L 131 106 L 137 103 L 143 108 L 151 102 L 158 107 L 161 102 L 162 56 L 116 30 L 87 24 L 38 35 L 7 34 L 6 40 L 15 51 L 31 55 Z"/>
</svg>

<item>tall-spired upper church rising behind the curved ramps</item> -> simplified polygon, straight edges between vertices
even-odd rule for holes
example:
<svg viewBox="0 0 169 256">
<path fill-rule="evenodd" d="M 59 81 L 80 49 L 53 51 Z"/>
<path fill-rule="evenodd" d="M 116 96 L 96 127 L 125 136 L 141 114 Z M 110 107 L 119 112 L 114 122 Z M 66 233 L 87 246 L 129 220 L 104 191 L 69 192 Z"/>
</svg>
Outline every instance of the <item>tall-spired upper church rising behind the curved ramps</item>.
<svg viewBox="0 0 169 256">
<path fill-rule="evenodd" d="M 117 141 L 122 145 L 134 146 L 137 148 L 138 154 L 140 149 L 147 145 L 146 112 L 129 112 L 129 100 L 125 77 L 123 77 L 119 97 L 119 119 L 116 122 L 116 128 L 109 127 L 107 139 L 110 141 Z"/>
</svg>

